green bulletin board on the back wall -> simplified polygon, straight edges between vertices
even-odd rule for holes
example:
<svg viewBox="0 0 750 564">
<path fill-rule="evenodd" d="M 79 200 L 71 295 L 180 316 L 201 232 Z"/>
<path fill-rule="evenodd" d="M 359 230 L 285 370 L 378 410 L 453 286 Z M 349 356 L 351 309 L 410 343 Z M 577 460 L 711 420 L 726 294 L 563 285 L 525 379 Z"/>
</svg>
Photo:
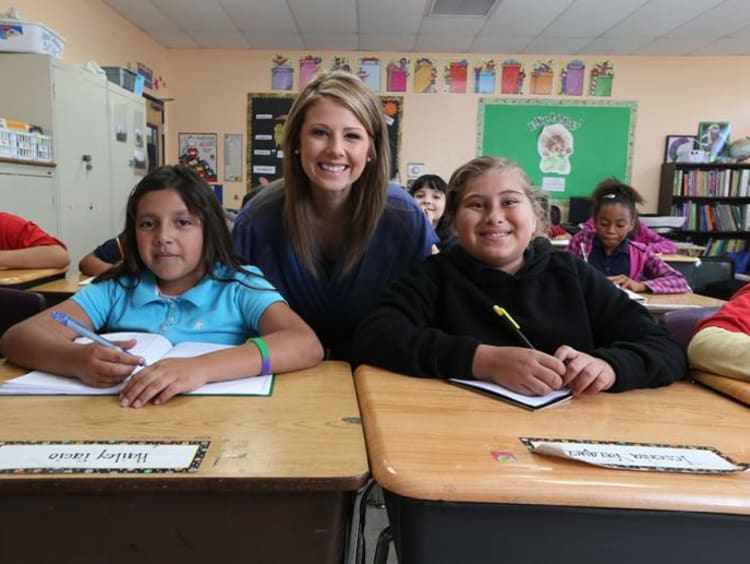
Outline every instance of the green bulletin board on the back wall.
<svg viewBox="0 0 750 564">
<path fill-rule="evenodd" d="M 517 161 L 554 198 L 589 196 L 615 176 L 630 182 L 636 102 L 481 98 L 479 155 Z"/>
</svg>

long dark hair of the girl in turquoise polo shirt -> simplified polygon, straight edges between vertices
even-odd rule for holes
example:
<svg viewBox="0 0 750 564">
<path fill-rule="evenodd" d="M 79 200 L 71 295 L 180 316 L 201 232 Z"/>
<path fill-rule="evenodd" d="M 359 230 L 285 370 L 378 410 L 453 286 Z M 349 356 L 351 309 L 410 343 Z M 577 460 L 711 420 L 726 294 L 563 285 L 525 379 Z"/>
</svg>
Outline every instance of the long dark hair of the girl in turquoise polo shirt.
<svg viewBox="0 0 750 564">
<path fill-rule="evenodd" d="M 130 192 L 125 207 L 125 230 L 121 235 L 125 257 L 116 267 L 99 276 L 96 281 L 131 277 L 135 285 L 141 273 L 148 270 L 138 252 L 136 220 L 138 204 L 144 195 L 158 190 L 175 190 L 190 213 L 196 215 L 203 226 L 203 249 L 201 264 L 211 278 L 215 278 L 214 267 L 220 263 L 232 271 L 241 271 L 257 276 L 242 268 L 240 258 L 232 250 L 232 239 L 226 223 L 224 209 L 213 190 L 191 168 L 185 166 L 161 166 L 146 175 Z"/>
</svg>

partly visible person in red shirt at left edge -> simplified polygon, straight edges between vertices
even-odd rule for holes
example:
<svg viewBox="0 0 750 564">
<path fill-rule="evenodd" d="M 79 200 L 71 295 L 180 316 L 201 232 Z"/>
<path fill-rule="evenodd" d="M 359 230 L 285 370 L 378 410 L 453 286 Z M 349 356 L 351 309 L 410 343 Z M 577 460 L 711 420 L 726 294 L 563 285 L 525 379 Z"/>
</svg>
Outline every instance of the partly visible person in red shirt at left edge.
<svg viewBox="0 0 750 564">
<path fill-rule="evenodd" d="M 62 268 L 70 264 L 68 249 L 36 223 L 0 212 L 0 267 Z"/>
</svg>

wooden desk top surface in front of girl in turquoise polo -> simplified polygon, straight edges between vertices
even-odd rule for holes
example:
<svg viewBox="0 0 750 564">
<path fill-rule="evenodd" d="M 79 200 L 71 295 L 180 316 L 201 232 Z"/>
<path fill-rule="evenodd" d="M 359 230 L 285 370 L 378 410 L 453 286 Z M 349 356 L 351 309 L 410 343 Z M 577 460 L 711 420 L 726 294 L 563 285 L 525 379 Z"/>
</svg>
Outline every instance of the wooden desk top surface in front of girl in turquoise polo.
<svg viewBox="0 0 750 564">
<path fill-rule="evenodd" d="M 0 364 L 0 381 L 23 372 Z M 195 473 L 0 475 L 0 492 L 24 482 L 30 491 L 352 491 L 369 476 L 351 369 L 343 362 L 277 375 L 270 397 L 181 396 L 132 409 L 116 396 L 0 396 L 0 440 L 211 441 Z"/>
</svg>

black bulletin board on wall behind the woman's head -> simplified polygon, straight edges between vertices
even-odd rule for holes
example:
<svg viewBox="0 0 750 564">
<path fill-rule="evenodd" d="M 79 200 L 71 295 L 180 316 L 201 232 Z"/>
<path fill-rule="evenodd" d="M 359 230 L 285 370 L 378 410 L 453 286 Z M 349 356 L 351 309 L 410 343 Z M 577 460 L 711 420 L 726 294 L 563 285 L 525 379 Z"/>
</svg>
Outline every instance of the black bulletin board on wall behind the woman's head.
<svg viewBox="0 0 750 564">
<path fill-rule="evenodd" d="M 391 147 L 391 178 L 399 175 L 402 96 L 379 96 L 383 103 Z M 247 95 L 247 190 L 267 184 L 284 174 L 284 125 L 294 102 L 293 94 Z"/>
</svg>

